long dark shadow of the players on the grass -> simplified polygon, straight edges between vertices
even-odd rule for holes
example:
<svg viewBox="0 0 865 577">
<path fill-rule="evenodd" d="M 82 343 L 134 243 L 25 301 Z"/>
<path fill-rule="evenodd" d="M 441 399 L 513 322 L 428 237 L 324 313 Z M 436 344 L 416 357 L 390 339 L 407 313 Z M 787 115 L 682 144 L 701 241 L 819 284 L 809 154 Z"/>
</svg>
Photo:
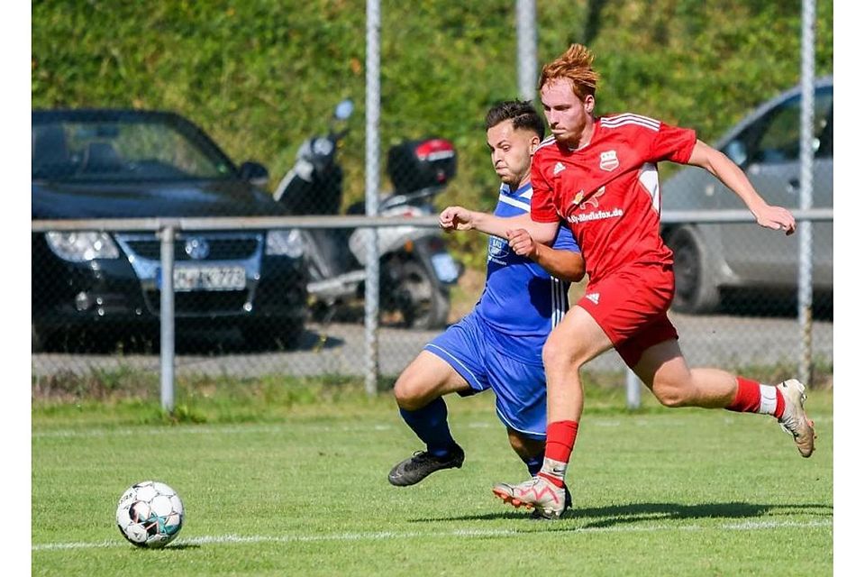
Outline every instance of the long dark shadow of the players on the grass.
<svg viewBox="0 0 865 577">
<path fill-rule="evenodd" d="M 817 515 L 833 517 L 831 505 L 796 504 L 796 505 L 760 505 L 754 503 L 706 503 L 701 505 L 681 505 L 678 503 L 630 503 L 627 505 L 611 505 L 596 508 L 572 508 L 566 511 L 562 519 L 580 519 L 587 523 L 583 528 L 615 527 L 626 524 L 642 523 L 659 520 L 687 519 L 757 519 L 771 515 L 774 518 L 788 515 Z M 501 519 L 529 519 L 528 511 L 514 510 L 487 515 L 467 515 L 463 517 L 435 517 L 412 519 L 413 523 L 430 523 L 436 521 L 478 521 Z"/>
</svg>

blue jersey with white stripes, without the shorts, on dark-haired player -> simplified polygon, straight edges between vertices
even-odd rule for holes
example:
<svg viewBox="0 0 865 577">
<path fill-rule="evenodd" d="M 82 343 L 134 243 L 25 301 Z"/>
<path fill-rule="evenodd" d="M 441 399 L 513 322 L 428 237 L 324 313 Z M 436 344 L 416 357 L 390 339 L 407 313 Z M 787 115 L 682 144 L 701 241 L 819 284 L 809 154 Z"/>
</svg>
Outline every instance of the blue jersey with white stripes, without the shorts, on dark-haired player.
<svg viewBox="0 0 865 577">
<path fill-rule="evenodd" d="M 531 210 L 531 183 L 515 191 L 502 185 L 494 212 L 496 216 L 524 215 Z M 568 226 L 559 227 L 552 247 L 579 252 Z M 487 285 L 476 310 L 488 325 L 501 333 L 545 339 L 568 312 L 569 287 L 569 282 L 551 277 L 538 263 L 511 252 L 507 240 L 490 236 Z M 537 354 L 540 355 L 540 351 Z"/>
</svg>

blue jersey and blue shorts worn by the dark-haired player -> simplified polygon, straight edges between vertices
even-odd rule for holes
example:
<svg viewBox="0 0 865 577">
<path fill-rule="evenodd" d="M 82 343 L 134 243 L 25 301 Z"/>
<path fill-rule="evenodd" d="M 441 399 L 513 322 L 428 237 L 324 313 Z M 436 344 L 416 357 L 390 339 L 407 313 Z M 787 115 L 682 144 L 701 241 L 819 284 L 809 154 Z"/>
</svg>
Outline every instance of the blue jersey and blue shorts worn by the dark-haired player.
<svg viewBox="0 0 865 577">
<path fill-rule="evenodd" d="M 495 215 L 523 215 L 531 205 L 531 184 L 514 192 L 505 185 Z M 553 247 L 579 251 L 568 226 L 559 227 Z M 511 252 L 507 241 L 490 236 L 487 286 L 478 305 L 424 350 L 450 364 L 471 391 L 493 389 L 496 413 L 505 426 L 543 440 L 547 430 L 543 343 L 568 311 L 568 289 L 568 282 L 552 278 L 539 264 Z"/>
</svg>

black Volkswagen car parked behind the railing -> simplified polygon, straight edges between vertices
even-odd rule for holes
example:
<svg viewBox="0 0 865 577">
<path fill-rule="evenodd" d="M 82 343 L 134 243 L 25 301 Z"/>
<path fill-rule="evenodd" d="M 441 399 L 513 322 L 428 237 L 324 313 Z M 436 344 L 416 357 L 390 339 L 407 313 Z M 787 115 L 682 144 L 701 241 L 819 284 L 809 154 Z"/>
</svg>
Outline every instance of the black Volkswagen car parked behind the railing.
<svg viewBox="0 0 865 577">
<path fill-rule="evenodd" d="M 286 215 L 259 188 L 267 177 L 258 163 L 235 166 L 178 114 L 32 112 L 33 220 Z M 302 334 L 308 278 L 297 230 L 178 231 L 174 257 L 178 330 L 240 328 L 256 346 Z M 153 232 L 33 232 L 33 350 L 59 333 L 152 331 L 160 286 Z"/>
</svg>

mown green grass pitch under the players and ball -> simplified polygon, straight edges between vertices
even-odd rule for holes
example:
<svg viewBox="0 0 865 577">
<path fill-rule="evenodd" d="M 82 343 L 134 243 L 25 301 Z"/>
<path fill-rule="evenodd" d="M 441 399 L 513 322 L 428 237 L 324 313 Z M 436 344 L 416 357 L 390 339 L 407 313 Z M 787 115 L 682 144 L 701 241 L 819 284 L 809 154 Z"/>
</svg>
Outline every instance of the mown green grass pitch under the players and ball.
<svg viewBox="0 0 865 577">
<path fill-rule="evenodd" d="M 331 387 L 290 401 L 273 387 L 254 392 L 259 418 L 209 391 L 190 419 L 204 423 L 160 420 L 152 399 L 34 399 L 32 574 L 833 573 L 831 390 L 809 398 L 819 438 L 805 460 L 769 417 L 651 398 L 628 413 L 621 391 L 589 389 L 569 468 L 575 508 L 535 521 L 490 492 L 525 472 L 489 394 L 449 398 L 463 468 L 395 488 L 388 470 L 420 447 L 387 394 Z M 164 550 L 114 527 L 123 490 L 147 479 L 187 508 Z"/>
</svg>

